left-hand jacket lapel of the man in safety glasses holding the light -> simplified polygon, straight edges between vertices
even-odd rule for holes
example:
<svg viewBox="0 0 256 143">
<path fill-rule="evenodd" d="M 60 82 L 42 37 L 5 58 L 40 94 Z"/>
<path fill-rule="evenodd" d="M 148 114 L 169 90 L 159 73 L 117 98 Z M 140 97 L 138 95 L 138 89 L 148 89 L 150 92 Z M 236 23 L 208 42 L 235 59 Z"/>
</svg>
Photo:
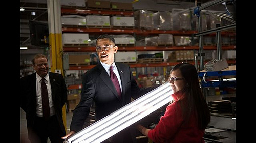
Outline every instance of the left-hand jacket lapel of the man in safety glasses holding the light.
<svg viewBox="0 0 256 143">
<path fill-rule="evenodd" d="M 106 84 L 107 87 L 110 88 L 110 90 L 114 93 L 114 95 L 118 98 L 118 94 L 116 91 L 116 88 L 113 84 L 113 82 L 110 79 L 110 76 L 108 75 L 108 73 L 106 73 L 105 69 L 103 68 L 103 66 L 99 63 L 99 77 L 103 80 L 103 82 Z"/>
</svg>

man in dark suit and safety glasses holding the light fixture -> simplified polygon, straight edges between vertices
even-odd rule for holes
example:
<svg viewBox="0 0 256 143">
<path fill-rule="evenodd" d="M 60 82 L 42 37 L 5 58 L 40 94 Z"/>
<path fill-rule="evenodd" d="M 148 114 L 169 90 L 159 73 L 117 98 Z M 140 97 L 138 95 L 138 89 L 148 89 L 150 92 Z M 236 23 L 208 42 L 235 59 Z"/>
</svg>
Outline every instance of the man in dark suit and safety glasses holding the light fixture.
<svg viewBox="0 0 256 143">
<path fill-rule="evenodd" d="M 100 35 L 96 40 L 96 51 L 100 62 L 83 75 L 81 99 L 73 111 L 70 125 L 70 133 L 67 138 L 83 129 L 84 121 L 90 112 L 92 103 L 95 104 L 96 121 L 110 115 L 131 102 L 131 98 L 137 99 L 156 87 L 140 89 L 135 81 L 129 65 L 114 62 L 114 54 L 118 47 L 115 39 L 110 35 Z M 121 97 L 110 78 L 110 67 L 118 78 L 121 88 Z M 106 138 L 104 142 L 132 143 L 136 142 L 136 129 L 128 127 L 116 135 Z"/>
</svg>

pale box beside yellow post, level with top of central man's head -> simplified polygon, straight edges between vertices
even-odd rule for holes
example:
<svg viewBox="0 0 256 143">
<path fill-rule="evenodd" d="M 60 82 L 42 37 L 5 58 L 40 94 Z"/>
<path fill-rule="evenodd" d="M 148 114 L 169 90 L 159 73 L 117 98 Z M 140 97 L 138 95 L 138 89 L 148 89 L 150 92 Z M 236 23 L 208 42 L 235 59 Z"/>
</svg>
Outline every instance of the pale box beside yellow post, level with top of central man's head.
<svg viewBox="0 0 256 143">
<path fill-rule="evenodd" d="M 63 33 L 62 43 L 65 44 L 89 44 L 88 33 Z"/>
</svg>

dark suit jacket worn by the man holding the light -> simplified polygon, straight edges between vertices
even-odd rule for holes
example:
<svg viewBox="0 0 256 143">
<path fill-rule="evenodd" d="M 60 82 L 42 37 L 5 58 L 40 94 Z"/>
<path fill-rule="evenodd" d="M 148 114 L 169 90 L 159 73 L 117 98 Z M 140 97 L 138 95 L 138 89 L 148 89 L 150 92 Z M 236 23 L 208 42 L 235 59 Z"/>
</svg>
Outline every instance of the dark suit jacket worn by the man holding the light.
<svg viewBox="0 0 256 143">
<path fill-rule="evenodd" d="M 70 130 L 78 132 L 82 129 L 93 101 L 95 102 L 97 121 L 130 103 L 131 97 L 137 99 L 154 89 L 140 89 L 132 75 L 130 66 L 118 62 L 115 62 L 115 64 L 119 71 L 122 83 L 122 101 L 118 99 L 117 91 L 110 76 L 101 63 L 99 63 L 83 75 L 81 99 L 74 109 Z M 134 135 L 133 137 L 135 137 Z M 130 136 L 130 134 L 126 134 L 126 136 Z M 122 141 L 120 141 L 120 143 L 121 142 Z"/>
</svg>

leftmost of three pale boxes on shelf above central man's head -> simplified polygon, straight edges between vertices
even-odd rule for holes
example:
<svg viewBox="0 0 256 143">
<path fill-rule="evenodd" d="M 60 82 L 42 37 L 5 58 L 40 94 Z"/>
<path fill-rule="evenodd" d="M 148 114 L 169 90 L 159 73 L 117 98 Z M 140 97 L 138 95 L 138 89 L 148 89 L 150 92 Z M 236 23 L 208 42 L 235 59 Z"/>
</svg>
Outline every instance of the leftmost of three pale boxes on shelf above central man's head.
<svg viewBox="0 0 256 143">
<path fill-rule="evenodd" d="M 61 24 L 86 26 L 86 17 L 80 15 L 63 15 L 61 16 Z"/>
</svg>

